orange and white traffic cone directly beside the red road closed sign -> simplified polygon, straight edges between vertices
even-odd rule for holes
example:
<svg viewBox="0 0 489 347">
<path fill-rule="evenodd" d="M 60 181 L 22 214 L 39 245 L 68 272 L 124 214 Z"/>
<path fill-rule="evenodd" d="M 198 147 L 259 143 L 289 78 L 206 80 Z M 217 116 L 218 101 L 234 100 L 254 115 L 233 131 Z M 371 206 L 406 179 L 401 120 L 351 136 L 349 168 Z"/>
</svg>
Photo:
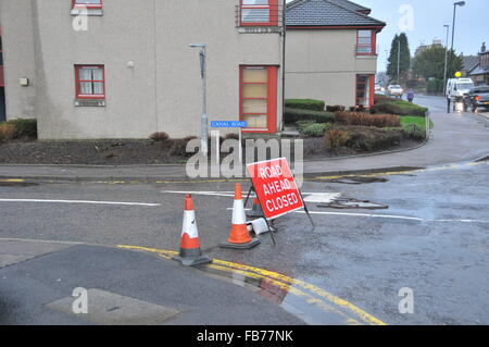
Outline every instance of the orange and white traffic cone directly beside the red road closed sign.
<svg viewBox="0 0 489 347">
<path fill-rule="evenodd" d="M 241 184 L 236 184 L 235 203 L 233 206 L 233 222 L 229 238 L 220 244 L 223 248 L 249 249 L 260 244 L 258 238 L 251 238 L 247 227 L 247 216 L 242 203 Z"/>
</svg>

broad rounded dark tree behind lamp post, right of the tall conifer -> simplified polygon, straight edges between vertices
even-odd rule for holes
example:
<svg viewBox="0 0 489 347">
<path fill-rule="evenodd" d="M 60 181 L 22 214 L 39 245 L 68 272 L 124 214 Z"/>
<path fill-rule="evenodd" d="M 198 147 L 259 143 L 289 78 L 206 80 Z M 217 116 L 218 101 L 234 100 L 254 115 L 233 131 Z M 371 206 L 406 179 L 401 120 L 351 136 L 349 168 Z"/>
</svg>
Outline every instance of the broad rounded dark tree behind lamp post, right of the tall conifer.
<svg viewBox="0 0 489 347">
<path fill-rule="evenodd" d="M 413 60 L 413 74 L 426 80 L 430 78 L 443 79 L 444 57 L 447 49 L 442 46 L 431 46 Z M 462 57 L 450 50 L 448 55 L 447 78 L 463 67 Z"/>
</svg>

